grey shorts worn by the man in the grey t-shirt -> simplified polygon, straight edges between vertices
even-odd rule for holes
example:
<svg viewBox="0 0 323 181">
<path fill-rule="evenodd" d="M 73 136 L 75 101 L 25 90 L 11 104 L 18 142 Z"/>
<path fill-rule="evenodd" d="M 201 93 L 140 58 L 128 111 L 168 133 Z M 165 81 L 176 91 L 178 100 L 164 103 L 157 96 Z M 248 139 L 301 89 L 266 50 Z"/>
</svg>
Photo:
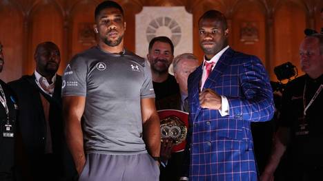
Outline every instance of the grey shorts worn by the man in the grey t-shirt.
<svg viewBox="0 0 323 181">
<path fill-rule="evenodd" d="M 88 153 L 79 181 L 157 181 L 159 167 L 148 153 L 105 155 Z"/>
</svg>

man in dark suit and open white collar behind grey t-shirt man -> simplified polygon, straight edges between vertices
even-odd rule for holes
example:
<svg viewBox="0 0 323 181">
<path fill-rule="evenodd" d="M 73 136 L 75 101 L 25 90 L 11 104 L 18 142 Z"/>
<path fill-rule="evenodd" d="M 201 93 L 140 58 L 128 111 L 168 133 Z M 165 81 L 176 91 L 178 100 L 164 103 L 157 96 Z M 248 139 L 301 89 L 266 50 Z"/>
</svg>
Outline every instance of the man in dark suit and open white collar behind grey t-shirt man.
<svg viewBox="0 0 323 181">
<path fill-rule="evenodd" d="M 18 180 L 26 180 L 27 175 L 31 180 L 72 180 L 76 171 L 63 137 L 61 76 L 56 74 L 59 48 L 52 42 L 40 43 L 34 58 L 34 74 L 9 83 L 19 106 L 19 147 L 26 150 L 28 162 L 27 167 L 17 165 Z"/>
</svg>

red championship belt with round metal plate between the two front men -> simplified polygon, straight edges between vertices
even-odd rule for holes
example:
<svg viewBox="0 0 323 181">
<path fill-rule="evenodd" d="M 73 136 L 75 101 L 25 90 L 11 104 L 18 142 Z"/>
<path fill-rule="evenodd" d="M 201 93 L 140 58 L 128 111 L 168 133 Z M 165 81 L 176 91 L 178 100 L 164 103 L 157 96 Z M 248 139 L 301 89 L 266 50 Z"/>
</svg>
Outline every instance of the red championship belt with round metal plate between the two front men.
<svg viewBox="0 0 323 181">
<path fill-rule="evenodd" d="M 183 151 L 186 145 L 188 129 L 188 113 L 175 109 L 157 111 L 160 119 L 161 142 L 164 139 L 173 140 L 173 152 Z"/>
</svg>

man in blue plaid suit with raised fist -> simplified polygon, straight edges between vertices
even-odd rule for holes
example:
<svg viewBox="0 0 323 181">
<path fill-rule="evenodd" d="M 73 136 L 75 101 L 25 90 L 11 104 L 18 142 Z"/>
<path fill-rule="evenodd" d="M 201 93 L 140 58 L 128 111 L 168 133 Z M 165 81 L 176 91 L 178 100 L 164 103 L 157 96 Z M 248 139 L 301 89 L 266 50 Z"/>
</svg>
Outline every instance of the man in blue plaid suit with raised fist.
<svg viewBox="0 0 323 181">
<path fill-rule="evenodd" d="M 221 12 L 199 19 L 199 44 L 204 61 L 188 77 L 189 174 L 181 179 L 257 180 L 250 124 L 273 117 L 268 74 L 259 58 L 228 46 Z"/>
</svg>

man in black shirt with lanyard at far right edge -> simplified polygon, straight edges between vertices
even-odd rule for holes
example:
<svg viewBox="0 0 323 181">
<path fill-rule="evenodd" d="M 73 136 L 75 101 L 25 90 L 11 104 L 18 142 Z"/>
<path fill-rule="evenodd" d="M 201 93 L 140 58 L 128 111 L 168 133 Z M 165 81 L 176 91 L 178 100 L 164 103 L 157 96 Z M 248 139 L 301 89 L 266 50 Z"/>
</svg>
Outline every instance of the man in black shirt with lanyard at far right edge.
<svg viewBox="0 0 323 181">
<path fill-rule="evenodd" d="M 280 127 L 261 180 L 273 180 L 287 147 L 291 156 L 286 172 L 288 179 L 322 178 L 323 34 L 312 34 L 302 41 L 300 63 L 306 74 L 288 83 L 284 90 Z"/>
</svg>

